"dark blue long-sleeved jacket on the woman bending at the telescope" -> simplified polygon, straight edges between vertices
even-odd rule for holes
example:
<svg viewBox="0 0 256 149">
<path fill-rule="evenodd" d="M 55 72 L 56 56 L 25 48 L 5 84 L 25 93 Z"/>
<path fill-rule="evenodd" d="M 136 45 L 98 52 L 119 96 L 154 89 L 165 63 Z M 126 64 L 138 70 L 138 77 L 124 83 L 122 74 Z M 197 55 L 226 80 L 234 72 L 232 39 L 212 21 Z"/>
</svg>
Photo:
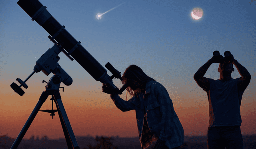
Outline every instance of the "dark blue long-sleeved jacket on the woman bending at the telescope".
<svg viewBox="0 0 256 149">
<path fill-rule="evenodd" d="M 170 149 L 182 145 L 184 130 L 174 111 L 172 100 L 162 84 L 156 81 L 147 82 L 145 94 L 140 94 L 138 98 L 133 96 L 128 101 L 123 100 L 118 95 L 110 97 L 122 112 L 135 110 L 140 138 L 145 110 L 148 127 L 156 137 L 166 141 L 165 145 Z"/>
</svg>

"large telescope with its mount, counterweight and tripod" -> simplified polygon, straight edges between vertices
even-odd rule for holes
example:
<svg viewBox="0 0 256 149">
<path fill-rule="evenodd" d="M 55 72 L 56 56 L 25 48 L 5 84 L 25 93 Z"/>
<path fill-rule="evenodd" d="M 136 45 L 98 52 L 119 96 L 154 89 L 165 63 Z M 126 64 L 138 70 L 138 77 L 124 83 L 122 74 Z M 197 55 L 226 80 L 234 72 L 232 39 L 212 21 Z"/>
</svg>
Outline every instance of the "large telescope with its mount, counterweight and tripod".
<svg viewBox="0 0 256 149">
<path fill-rule="evenodd" d="M 46 6 L 43 6 L 38 0 L 19 0 L 17 4 L 32 18 L 33 21 L 36 21 L 50 34 L 48 38 L 54 43 L 54 46 L 48 49 L 38 61 L 36 61 L 36 65 L 33 69 L 34 71 L 28 78 L 26 78 L 26 80 L 23 81 L 20 78 L 16 79 L 20 83 L 20 86 L 14 82 L 10 86 L 15 92 L 22 96 L 25 92 L 21 87 L 28 88 L 26 81 L 34 73 L 42 71 L 46 76 L 50 73 L 53 73 L 54 76 L 50 78 L 49 82 L 43 80 L 43 83 L 47 83 L 45 86 L 46 90 L 42 92 L 38 103 L 30 114 L 18 137 L 15 139 L 11 149 L 16 149 L 18 147 L 38 111 L 51 113 L 52 118 L 55 115 L 54 112 L 58 112 L 68 149 L 80 149 L 76 142 L 59 92 L 59 88 L 63 88 L 64 91 L 64 87 L 60 87 L 61 82 L 65 85 L 71 85 L 73 80 L 57 63 L 60 60 L 58 54 L 63 52 L 71 61 L 75 59 L 96 81 L 106 84 L 106 86 L 116 94 L 122 94 L 129 84 L 124 84 L 119 90 L 112 80 L 114 78 L 123 80 L 121 73 L 108 62 L 105 67 L 112 73 L 112 76 L 109 76 L 106 69 L 104 69 L 104 67 L 102 67 L 102 65 L 100 65 L 100 63 L 98 63 L 98 61 L 84 49 L 80 44 L 81 42 L 74 39 L 74 37 L 66 31 L 65 26 L 60 25 L 48 10 L 46 10 Z M 40 110 L 42 104 L 49 95 L 52 95 L 52 110 Z M 53 110 L 53 101 L 56 104 L 57 110 Z"/>
</svg>

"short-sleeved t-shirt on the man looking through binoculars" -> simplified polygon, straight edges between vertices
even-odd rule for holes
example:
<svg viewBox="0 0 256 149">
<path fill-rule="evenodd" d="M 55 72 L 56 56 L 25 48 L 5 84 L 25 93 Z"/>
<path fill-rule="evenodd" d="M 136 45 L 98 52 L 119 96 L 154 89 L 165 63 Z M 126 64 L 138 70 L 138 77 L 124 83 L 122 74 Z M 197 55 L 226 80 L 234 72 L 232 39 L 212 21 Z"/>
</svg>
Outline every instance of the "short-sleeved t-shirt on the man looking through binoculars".
<svg viewBox="0 0 256 149">
<path fill-rule="evenodd" d="M 238 90 L 239 78 L 226 82 L 207 79 L 210 89 L 204 90 L 209 101 L 209 127 L 241 125 L 240 105 L 244 91 Z"/>
</svg>

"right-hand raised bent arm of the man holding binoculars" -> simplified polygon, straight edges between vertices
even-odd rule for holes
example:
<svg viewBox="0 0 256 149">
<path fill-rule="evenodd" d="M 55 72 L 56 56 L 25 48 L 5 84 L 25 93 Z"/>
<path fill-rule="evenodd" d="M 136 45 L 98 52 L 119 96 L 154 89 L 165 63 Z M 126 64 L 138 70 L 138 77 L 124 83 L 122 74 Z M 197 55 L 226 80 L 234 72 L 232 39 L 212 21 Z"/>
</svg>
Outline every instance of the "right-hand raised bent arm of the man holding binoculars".
<svg viewBox="0 0 256 149">
<path fill-rule="evenodd" d="M 244 68 L 240 63 L 238 63 L 238 61 L 234 59 L 233 55 L 232 59 L 233 65 L 235 65 L 236 69 L 238 70 L 238 73 L 241 75 L 241 77 L 238 80 L 238 90 L 244 91 L 250 83 L 251 75 L 246 68 Z"/>
</svg>

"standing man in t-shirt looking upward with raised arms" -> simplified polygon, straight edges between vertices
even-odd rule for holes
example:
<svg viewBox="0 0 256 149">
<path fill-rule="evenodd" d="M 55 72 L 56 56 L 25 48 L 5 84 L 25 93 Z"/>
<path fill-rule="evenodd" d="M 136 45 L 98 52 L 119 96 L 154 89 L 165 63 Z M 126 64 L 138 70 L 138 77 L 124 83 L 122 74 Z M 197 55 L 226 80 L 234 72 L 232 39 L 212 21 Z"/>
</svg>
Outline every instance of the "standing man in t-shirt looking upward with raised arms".
<svg viewBox="0 0 256 149">
<path fill-rule="evenodd" d="M 243 149 L 240 125 L 240 105 L 244 90 L 250 83 L 250 73 L 230 56 L 229 61 L 212 57 L 194 74 L 194 80 L 206 91 L 209 101 L 209 127 L 207 132 L 208 149 Z M 220 63 L 221 62 L 221 63 Z M 212 63 L 220 63 L 220 79 L 204 77 Z M 233 79 L 231 73 L 235 65 L 240 78 Z"/>
</svg>

